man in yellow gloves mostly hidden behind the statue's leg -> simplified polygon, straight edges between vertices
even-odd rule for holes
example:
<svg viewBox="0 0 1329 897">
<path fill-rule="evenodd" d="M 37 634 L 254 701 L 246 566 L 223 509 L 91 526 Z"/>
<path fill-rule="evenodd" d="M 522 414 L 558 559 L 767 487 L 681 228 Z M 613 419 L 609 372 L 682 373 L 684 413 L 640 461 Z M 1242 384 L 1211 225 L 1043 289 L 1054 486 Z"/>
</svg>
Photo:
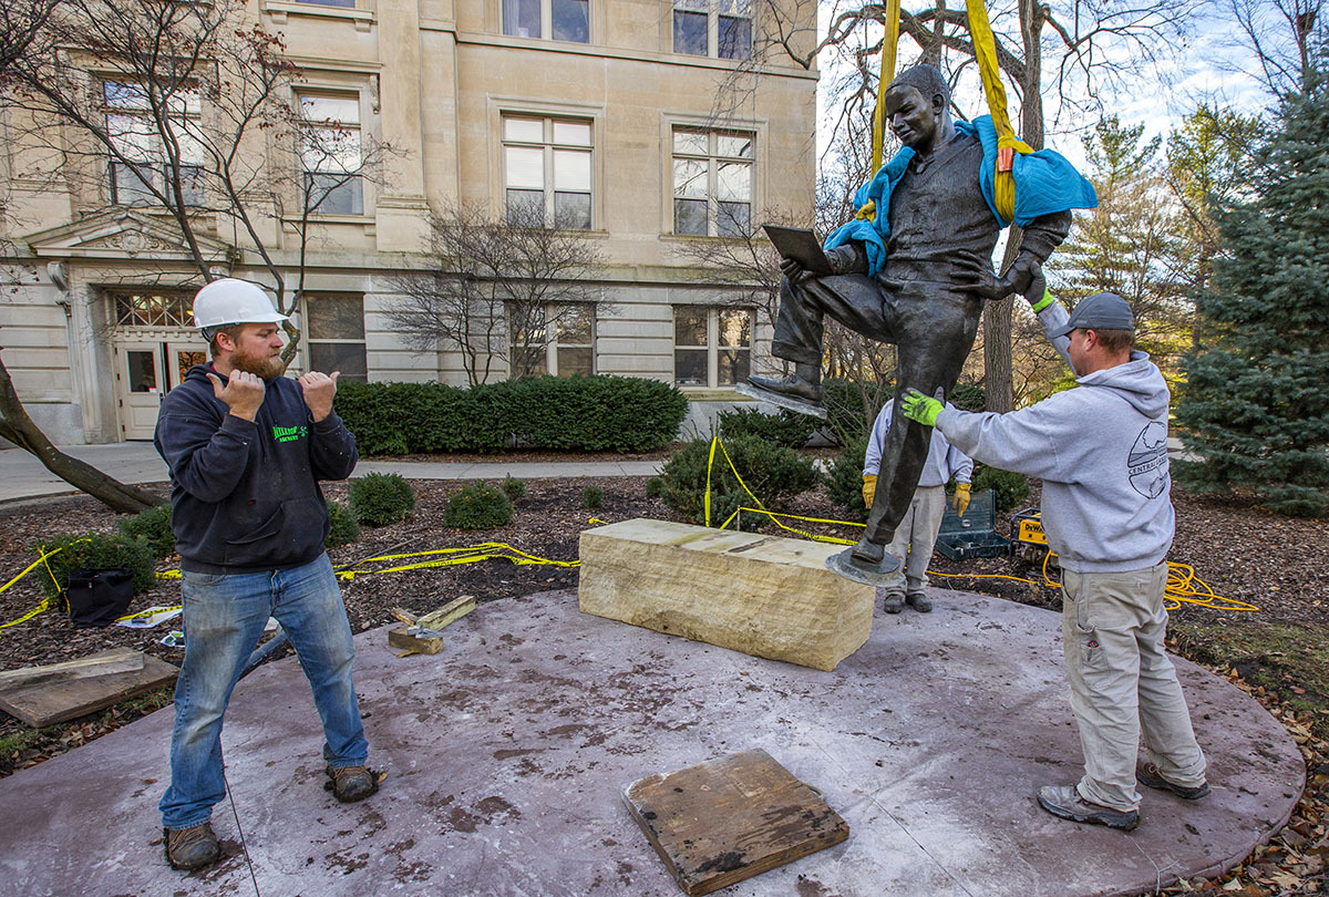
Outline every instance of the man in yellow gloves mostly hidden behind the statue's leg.
<svg viewBox="0 0 1329 897">
<path fill-rule="evenodd" d="M 881 468 L 881 444 L 890 431 L 893 403 L 886 403 L 877 415 L 868 440 L 868 452 L 863 460 L 863 504 L 872 509 L 877 494 L 877 470 Z M 937 546 L 937 533 L 941 532 L 941 518 L 946 513 L 946 484 L 956 480 L 956 514 L 964 517 L 969 508 L 970 476 L 974 462 L 968 454 L 946 441 L 941 431 L 932 431 L 928 445 L 928 461 L 918 477 L 913 501 L 904 520 L 896 526 L 896 536 L 886 551 L 900 561 L 897 569 L 885 583 L 877 586 L 877 594 L 888 614 L 898 614 L 905 603 L 920 614 L 932 610 L 928 597 L 928 563 Z"/>
</svg>

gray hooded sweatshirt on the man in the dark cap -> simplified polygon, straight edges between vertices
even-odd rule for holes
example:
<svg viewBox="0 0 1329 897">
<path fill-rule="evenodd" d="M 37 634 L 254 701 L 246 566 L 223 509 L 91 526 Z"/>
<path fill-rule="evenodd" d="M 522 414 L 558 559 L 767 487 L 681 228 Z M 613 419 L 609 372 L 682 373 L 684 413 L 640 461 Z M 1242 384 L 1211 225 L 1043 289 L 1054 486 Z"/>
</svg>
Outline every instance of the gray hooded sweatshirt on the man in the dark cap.
<svg viewBox="0 0 1329 897">
<path fill-rule="evenodd" d="M 1069 315 L 1053 303 L 1038 318 L 1051 332 Z M 1053 340 L 1067 365 L 1069 343 Z M 1065 569 L 1119 573 L 1160 563 L 1174 522 L 1167 383 L 1144 352 L 1076 383 L 1007 415 L 946 407 L 937 429 L 983 464 L 1042 477 L 1043 529 Z"/>
</svg>

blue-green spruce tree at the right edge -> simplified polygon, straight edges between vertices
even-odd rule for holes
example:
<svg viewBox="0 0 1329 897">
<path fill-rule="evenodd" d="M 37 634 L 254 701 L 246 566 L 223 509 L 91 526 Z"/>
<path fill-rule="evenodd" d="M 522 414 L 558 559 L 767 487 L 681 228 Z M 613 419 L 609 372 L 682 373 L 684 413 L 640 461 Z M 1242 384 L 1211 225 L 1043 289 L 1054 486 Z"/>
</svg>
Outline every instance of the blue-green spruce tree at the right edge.
<svg viewBox="0 0 1329 897">
<path fill-rule="evenodd" d="M 1322 62 L 1324 60 L 1321 60 Z M 1200 347 L 1176 405 L 1204 492 L 1255 486 L 1271 510 L 1329 512 L 1329 81 L 1282 97 L 1252 161 L 1252 199 L 1221 218 L 1223 256 L 1197 296 Z"/>
</svg>

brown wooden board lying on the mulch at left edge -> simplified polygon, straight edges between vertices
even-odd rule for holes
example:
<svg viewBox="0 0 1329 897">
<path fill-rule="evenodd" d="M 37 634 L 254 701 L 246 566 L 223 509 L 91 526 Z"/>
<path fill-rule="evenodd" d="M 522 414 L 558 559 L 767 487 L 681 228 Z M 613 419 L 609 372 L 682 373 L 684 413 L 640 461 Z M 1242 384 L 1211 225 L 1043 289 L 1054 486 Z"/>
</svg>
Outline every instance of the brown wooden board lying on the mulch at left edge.
<svg viewBox="0 0 1329 897">
<path fill-rule="evenodd" d="M 116 655 L 121 654 L 122 648 L 117 648 L 93 654 L 85 659 L 101 660 L 106 659 L 108 655 L 112 655 L 114 659 Z M 130 668 L 108 672 L 106 675 L 73 679 L 57 676 L 56 679 L 29 682 L 27 684 L 17 683 L 11 688 L 0 691 L 0 710 L 23 720 L 28 726 L 40 728 L 85 716 L 86 714 L 94 714 L 126 698 L 169 686 L 175 680 L 179 670 L 171 664 L 146 655 L 142 651 L 134 651 L 134 654 L 142 658 L 142 663 L 137 670 Z M 128 660 L 122 656 L 118 662 L 125 662 L 130 666 L 134 663 L 134 660 Z M 116 663 L 112 663 L 112 666 L 116 666 Z M 97 664 L 89 664 L 85 668 L 96 667 Z M 37 667 L 37 670 L 40 668 Z"/>
</svg>

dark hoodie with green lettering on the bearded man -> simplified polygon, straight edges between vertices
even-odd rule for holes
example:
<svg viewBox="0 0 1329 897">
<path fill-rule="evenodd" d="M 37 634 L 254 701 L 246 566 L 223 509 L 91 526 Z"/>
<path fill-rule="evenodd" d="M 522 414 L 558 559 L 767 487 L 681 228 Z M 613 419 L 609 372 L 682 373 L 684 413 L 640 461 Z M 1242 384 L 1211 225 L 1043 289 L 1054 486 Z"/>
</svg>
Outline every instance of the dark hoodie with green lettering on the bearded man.
<svg viewBox="0 0 1329 897">
<path fill-rule="evenodd" d="M 355 437 L 336 412 L 315 424 L 290 377 L 267 384 L 253 421 L 237 417 L 209 372 L 194 365 L 166 395 L 153 439 L 170 468 L 181 567 L 256 573 L 315 561 L 328 534 L 318 481 L 351 476 Z"/>
</svg>

